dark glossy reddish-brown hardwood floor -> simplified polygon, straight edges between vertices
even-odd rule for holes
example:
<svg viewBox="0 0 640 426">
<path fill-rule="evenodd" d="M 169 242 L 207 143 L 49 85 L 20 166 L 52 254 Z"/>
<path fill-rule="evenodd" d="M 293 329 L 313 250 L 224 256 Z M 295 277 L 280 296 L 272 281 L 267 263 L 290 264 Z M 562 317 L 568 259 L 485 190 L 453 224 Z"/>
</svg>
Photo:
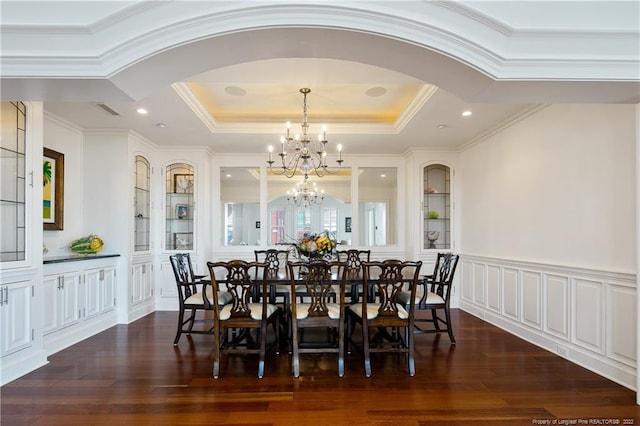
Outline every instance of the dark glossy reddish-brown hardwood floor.
<svg viewBox="0 0 640 426">
<path fill-rule="evenodd" d="M 183 336 L 174 347 L 176 313 L 156 312 L 63 350 L 3 386 L 0 422 L 640 424 L 633 391 L 465 312 L 454 310 L 453 322 L 456 346 L 446 334 L 416 336 L 415 377 L 403 357 L 374 354 L 367 379 L 362 357 L 352 353 L 343 378 L 336 355 L 309 354 L 294 379 L 282 351 L 269 355 L 263 379 L 256 357 L 233 355 L 215 380 L 213 338 Z"/>
</svg>

